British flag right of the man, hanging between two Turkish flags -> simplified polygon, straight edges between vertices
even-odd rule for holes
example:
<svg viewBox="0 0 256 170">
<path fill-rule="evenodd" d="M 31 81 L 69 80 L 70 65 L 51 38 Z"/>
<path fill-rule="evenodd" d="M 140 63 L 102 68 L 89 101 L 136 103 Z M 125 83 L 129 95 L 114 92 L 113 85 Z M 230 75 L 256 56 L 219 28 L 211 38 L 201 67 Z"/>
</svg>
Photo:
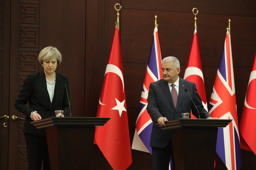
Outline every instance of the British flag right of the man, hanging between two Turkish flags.
<svg viewBox="0 0 256 170">
<path fill-rule="evenodd" d="M 216 152 L 226 168 L 239 170 L 241 168 L 240 140 L 231 40 L 228 29 L 208 108 L 212 117 L 232 119 L 228 126 L 218 129 Z"/>
</svg>

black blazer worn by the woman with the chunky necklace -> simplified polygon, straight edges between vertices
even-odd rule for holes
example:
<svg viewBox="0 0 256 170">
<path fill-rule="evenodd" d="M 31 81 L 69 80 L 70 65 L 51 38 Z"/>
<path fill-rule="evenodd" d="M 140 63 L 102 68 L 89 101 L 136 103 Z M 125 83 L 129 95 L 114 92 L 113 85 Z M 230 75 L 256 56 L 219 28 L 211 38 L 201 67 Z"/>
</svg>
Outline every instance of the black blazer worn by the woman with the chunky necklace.
<svg viewBox="0 0 256 170">
<path fill-rule="evenodd" d="M 66 87 L 68 95 L 66 93 Z M 56 81 L 54 88 L 54 96 L 52 103 L 50 102 L 49 93 L 47 91 L 46 76 L 44 71 L 31 73 L 24 81 L 22 90 L 15 101 L 15 108 L 26 115 L 23 132 L 45 135 L 45 129 L 36 129 L 30 122 L 31 112 L 37 111 L 42 119 L 55 117 L 55 110 L 63 110 L 65 117 L 70 114 L 69 108 L 69 85 L 68 77 L 63 74 L 56 73 Z M 29 103 L 29 107 L 27 105 Z"/>
</svg>

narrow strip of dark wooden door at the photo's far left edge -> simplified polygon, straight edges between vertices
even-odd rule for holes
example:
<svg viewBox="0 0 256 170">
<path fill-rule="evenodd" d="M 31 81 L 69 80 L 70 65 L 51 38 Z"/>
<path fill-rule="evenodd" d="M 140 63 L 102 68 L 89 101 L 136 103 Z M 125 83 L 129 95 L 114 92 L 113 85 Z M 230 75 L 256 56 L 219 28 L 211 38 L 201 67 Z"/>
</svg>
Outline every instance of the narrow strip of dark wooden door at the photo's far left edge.
<svg viewBox="0 0 256 170">
<path fill-rule="evenodd" d="M 0 169 L 8 168 L 10 1 L 0 0 Z M 8 118 L 7 118 L 8 117 Z"/>
</svg>

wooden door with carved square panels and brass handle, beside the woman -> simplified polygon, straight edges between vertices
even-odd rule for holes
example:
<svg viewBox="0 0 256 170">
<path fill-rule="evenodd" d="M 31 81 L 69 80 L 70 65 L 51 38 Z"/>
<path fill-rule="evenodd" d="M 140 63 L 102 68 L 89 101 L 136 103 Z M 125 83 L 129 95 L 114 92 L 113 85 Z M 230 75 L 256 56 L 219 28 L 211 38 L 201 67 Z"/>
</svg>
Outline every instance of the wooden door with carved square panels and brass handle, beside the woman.
<svg viewBox="0 0 256 170">
<path fill-rule="evenodd" d="M 38 52 L 39 1 L 11 1 L 8 169 L 27 169 L 25 115 L 14 104 L 27 75 L 39 69 Z"/>
</svg>

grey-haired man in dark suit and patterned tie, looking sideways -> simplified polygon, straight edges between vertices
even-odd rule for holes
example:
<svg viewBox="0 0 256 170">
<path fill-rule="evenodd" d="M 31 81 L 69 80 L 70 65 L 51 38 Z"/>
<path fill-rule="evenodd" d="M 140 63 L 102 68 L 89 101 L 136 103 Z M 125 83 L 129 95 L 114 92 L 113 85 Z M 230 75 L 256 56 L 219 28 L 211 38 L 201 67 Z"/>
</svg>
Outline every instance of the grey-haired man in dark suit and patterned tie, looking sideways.
<svg viewBox="0 0 256 170">
<path fill-rule="evenodd" d="M 168 170 L 170 158 L 172 159 L 172 170 L 174 170 L 174 159 L 172 155 L 171 131 L 162 130 L 156 123 L 165 125 L 165 121 L 182 118 L 181 113 L 190 113 L 197 118 L 213 119 L 204 109 L 202 100 L 196 89 L 196 85 L 178 76 L 180 73 L 180 62 L 176 57 L 165 57 L 162 60 L 163 79 L 153 82 L 149 86 L 147 111 L 153 121 L 150 138 L 152 148 L 153 170 Z M 197 106 L 194 107 L 190 97 Z"/>
</svg>

